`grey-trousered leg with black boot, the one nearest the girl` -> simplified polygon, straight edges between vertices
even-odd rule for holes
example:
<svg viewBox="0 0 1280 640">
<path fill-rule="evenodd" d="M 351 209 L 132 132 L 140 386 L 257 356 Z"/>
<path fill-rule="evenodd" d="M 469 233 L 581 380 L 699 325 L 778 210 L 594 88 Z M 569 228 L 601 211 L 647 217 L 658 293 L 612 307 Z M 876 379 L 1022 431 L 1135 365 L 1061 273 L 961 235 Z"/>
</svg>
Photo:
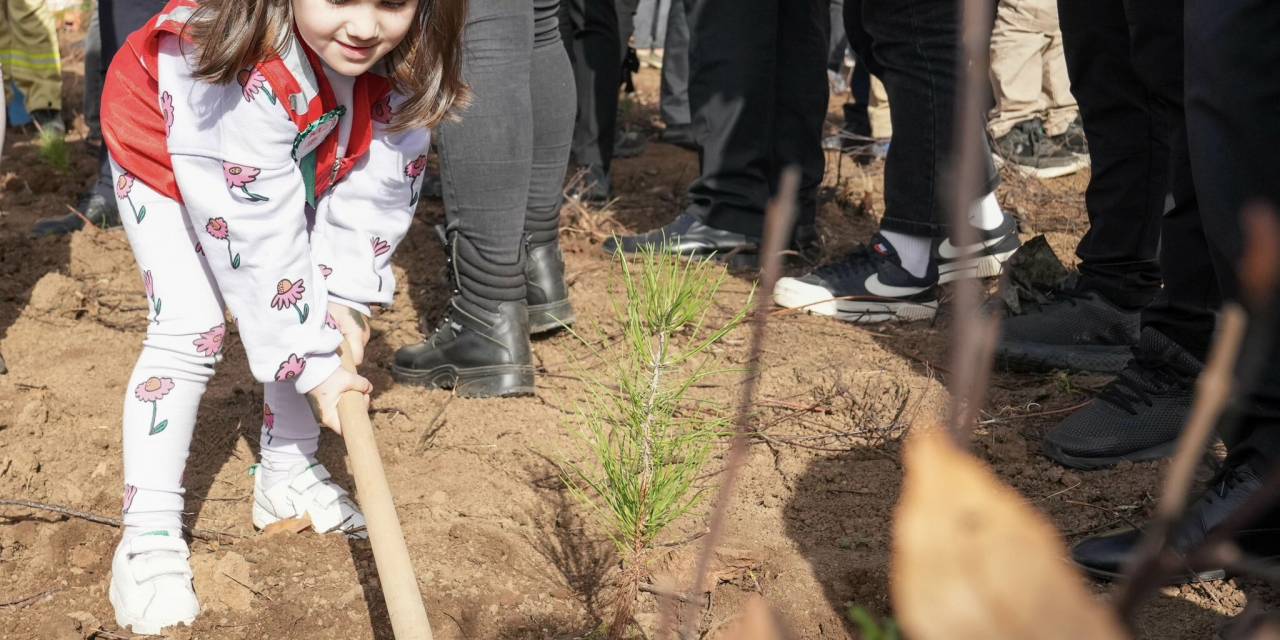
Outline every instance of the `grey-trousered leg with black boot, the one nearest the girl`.
<svg viewBox="0 0 1280 640">
<path fill-rule="evenodd" d="M 439 329 L 396 353 L 398 381 L 461 396 L 532 392 L 525 219 L 534 157 L 532 0 L 472 1 L 462 73 L 471 108 L 436 129 L 454 296 Z"/>
</svg>

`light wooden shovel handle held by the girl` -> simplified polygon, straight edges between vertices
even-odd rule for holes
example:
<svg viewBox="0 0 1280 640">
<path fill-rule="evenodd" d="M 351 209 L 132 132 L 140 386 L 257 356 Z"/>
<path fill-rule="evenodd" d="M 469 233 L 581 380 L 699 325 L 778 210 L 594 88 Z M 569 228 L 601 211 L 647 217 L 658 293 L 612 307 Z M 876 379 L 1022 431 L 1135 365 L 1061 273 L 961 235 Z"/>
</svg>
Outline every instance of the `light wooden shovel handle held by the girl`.
<svg viewBox="0 0 1280 640">
<path fill-rule="evenodd" d="M 356 372 L 349 351 L 344 344 L 342 366 Z M 383 471 L 383 458 L 378 454 L 374 426 L 369 422 L 369 411 L 360 393 L 342 394 L 338 399 L 338 420 L 342 422 L 342 438 L 347 442 L 351 472 L 356 477 L 360 507 L 369 527 L 383 599 L 392 618 L 392 632 L 397 640 L 431 640 L 431 625 L 426 620 L 422 593 L 417 588 L 399 516 L 396 515 L 392 489 Z"/>
</svg>

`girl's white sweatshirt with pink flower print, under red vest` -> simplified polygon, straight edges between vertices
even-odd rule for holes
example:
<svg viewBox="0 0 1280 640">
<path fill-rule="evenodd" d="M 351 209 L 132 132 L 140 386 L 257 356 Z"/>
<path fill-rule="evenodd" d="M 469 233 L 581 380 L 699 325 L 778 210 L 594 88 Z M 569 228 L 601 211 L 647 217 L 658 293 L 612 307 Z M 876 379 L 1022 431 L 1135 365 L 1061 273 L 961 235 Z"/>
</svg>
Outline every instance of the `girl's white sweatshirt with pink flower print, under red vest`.
<svg viewBox="0 0 1280 640">
<path fill-rule="evenodd" d="M 317 78 L 285 56 L 305 91 Z M 392 251 L 417 205 L 426 129 L 392 133 L 374 123 L 369 152 L 324 193 L 308 221 L 306 180 L 294 156 L 300 136 L 261 76 L 209 84 L 191 77 L 177 37 L 160 42 L 160 104 L 168 146 L 200 250 L 236 316 L 250 367 L 260 381 L 289 381 L 306 393 L 338 366 L 340 335 L 326 302 L 365 314 L 396 289 Z M 353 78 L 325 68 L 338 102 L 353 111 Z M 402 96 L 392 93 L 394 111 Z M 384 114 L 385 115 L 385 114 Z M 329 122 L 344 155 L 351 118 Z M 321 132 L 324 133 L 324 132 Z M 314 140 L 301 141 L 303 145 Z"/>
</svg>

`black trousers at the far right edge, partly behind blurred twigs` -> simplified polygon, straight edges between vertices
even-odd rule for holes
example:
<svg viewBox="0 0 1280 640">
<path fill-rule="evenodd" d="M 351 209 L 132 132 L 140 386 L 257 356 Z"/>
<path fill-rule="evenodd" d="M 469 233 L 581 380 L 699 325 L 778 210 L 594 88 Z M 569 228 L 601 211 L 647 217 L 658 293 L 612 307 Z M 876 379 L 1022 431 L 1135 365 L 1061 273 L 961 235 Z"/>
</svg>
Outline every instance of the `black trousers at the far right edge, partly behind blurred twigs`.
<svg viewBox="0 0 1280 640">
<path fill-rule="evenodd" d="M 1187 0 L 1187 131 L 1204 220 L 1206 252 L 1222 297 L 1239 297 L 1242 212 L 1280 209 L 1280 4 Z M 1272 292 L 1275 294 L 1275 292 Z M 1271 320 L 1275 321 L 1275 315 Z M 1271 328 L 1275 332 L 1275 328 Z M 1280 349 L 1261 355 L 1262 374 L 1234 433 L 1230 456 L 1263 471 L 1280 462 Z"/>
</svg>

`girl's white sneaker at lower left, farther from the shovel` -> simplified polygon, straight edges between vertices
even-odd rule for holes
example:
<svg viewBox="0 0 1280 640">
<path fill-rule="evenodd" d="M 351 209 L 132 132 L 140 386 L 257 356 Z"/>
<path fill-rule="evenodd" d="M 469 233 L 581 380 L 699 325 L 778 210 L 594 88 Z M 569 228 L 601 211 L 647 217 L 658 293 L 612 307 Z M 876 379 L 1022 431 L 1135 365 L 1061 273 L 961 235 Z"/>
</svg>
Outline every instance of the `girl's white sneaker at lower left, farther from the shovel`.
<svg viewBox="0 0 1280 640">
<path fill-rule="evenodd" d="M 200 602 L 191 585 L 191 549 L 177 531 L 152 531 L 122 541 L 111 559 L 108 598 L 115 623 L 134 634 L 191 625 Z"/>
</svg>

